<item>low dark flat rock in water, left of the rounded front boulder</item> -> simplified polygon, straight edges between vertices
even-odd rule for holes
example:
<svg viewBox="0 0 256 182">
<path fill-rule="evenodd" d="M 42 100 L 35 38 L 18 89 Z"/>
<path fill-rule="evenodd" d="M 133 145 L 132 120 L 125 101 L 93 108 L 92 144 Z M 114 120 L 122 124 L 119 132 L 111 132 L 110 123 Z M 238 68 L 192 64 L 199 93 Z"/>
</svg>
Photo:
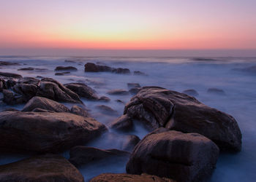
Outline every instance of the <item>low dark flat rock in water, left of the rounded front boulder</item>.
<svg viewBox="0 0 256 182">
<path fill-rule="evenodd" d="M 129 154 L 127 151 L 117 149 L 103 150 L 88 146 L 75 146 L 69 152 L 69 162 L 76 167 L 80 167 L 103 159 L 128 160 Z"/>
</svg>

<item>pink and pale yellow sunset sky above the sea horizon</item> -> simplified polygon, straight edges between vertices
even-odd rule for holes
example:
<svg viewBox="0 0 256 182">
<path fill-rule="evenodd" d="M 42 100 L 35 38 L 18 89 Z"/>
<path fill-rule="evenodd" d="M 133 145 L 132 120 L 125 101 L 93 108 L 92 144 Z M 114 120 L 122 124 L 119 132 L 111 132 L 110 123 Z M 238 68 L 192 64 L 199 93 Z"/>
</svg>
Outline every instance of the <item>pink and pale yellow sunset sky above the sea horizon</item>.
<svg viewBox="0 0 256 182">
<path fill-rule="evenodd" d="M 32 50 L 254 54 L 255 7 L 255 0 L 0 0 L 0 54 Z"/>
</svg>

